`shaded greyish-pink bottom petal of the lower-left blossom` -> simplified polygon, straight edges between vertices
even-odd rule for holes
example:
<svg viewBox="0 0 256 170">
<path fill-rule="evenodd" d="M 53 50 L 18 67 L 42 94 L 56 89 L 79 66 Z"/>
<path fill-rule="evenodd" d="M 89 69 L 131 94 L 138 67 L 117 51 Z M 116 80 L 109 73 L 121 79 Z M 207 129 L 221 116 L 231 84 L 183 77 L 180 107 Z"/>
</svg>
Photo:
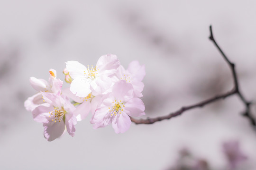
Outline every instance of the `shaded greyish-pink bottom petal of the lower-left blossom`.
<svg viewBox="0 0 256 170">
<path fill-rule="evenodd" d="M 44 128 L 45 138 L 48 141 L 53 141 L 64 133 L 65 124 L 64 121 L 50 122 L 48 124 L 44 124 Z"/>
</svg>

